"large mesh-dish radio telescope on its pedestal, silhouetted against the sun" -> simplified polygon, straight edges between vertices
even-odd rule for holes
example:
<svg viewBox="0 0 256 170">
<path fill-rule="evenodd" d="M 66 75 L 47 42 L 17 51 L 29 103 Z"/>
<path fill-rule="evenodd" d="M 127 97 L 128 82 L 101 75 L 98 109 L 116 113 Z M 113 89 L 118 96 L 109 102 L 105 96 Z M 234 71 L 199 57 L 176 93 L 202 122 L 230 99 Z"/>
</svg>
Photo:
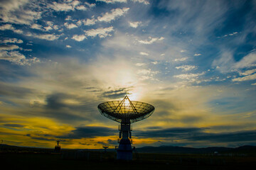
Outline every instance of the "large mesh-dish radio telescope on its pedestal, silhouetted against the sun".
<svg viewBox="0 0 256 170">
<path fill-rule="evenodd" d="M 149 118 L 154 112 L 154 106 L 140 101 L 130 101 L 128 96 L 125 96 L 122 101 L 107 101 L 100 103 L 97 108 L 105 117 L 121 123 L 117 159 L 132 160 L 132 140 L 129 140 L 132 138 L 131 123 Z"/>
</svg>

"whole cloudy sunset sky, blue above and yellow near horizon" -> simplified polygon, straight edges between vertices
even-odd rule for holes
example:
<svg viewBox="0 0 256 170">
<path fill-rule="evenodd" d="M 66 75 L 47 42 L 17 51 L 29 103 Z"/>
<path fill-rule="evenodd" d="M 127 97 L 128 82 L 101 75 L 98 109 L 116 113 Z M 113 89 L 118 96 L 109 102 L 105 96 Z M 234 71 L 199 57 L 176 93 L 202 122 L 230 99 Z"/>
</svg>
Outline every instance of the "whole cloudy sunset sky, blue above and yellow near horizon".
<svg viewBox="0 0 256 170">
<path fill-rule="evenodd" d="M 114 147 L 105 101 L 150 103 L 133 146 L 256 142 L 256 1 L 0 0 L 0 140 Z"/>
</svg>

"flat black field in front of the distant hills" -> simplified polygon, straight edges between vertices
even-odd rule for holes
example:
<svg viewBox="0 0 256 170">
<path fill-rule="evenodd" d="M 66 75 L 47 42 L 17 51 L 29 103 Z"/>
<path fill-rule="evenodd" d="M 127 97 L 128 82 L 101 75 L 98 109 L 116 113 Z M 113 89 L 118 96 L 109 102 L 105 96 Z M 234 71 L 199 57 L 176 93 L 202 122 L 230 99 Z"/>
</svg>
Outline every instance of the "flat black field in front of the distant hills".
<svg viewBox="0 0 256 170">
<path fill-rule="evenodd" d="M 88 154 L 89 153 L 89 154 Z M 255 156 L 203 154 L 134 154 L 119 162 L 114 152 L 0 152 L 6 169 L 255 169 Z"/>
</svg>

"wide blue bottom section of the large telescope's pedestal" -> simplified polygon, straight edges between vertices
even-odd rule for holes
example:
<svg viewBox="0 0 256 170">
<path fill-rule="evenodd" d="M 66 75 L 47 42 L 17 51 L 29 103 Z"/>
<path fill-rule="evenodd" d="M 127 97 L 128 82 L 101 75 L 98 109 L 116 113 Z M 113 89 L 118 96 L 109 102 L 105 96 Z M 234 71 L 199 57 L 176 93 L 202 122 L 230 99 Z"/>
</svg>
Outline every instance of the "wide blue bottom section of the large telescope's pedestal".
<svg viewBox="0 0 256 170">
<path fill-rule="evenodd" d="M 117 149 L 117 159 L 126 161 L 132 160 L 132 145 L 129 140 L 120 140 Z"/>
</svg>

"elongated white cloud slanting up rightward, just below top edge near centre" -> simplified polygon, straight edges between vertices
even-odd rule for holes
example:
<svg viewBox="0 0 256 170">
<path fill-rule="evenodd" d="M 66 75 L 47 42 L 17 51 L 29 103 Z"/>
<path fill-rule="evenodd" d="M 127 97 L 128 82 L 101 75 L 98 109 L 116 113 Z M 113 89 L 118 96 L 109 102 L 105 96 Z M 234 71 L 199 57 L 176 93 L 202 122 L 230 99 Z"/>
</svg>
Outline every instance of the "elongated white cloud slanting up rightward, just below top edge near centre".
<svg viewBox="0 0 256 170">
<path fill-rule="evenodd" d="M 103 16 L 97 17 L 97 21 L 110 22 L 119 16 L 123 16 L 127 11 L 129 11 L 129 8 L 114 8 L 110 13 L 105 13 Z"/>
</svg>

